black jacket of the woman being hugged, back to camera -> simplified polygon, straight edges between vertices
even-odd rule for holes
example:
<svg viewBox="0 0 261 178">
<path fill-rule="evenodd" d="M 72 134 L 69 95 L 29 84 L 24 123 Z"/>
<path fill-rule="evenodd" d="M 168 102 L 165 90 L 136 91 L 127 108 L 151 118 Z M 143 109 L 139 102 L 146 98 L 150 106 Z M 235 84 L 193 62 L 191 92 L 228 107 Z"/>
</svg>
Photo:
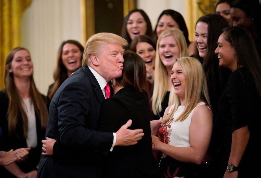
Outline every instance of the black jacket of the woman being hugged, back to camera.
<svg viewBox="0 0 261 178">
<path fill-rule="evenodd" d="M 132 119 L 129 129 L 143 129 L 144 132 L 136 145 L 113 148 L 105 161 L 104 177 L 157 177 L 149 113 L 147 93 L 136 92 L 132 86 L 122 88 L 103 102 L 98 131 L 116 132 Z"/>
</svg>

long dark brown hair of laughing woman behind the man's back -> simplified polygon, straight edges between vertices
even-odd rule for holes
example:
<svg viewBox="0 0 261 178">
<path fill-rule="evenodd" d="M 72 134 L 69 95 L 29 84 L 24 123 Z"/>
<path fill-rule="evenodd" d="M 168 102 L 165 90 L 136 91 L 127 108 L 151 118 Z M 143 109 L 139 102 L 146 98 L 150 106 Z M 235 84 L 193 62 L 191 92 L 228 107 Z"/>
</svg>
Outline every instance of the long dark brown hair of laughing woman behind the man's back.
<svg viewBox="0 0 261 178">
<path fill-rule="evenodd" d="M 60 45 L 60 47 L 58 49 L 57 66 L 56 66 L 56 69 L 54 71 L 54 85 L 47 94 L 50 99 L 52 99 L 55 92 L 62 85 L 64 80 L 66 80 L 68 78 L 67 69 L 62 62 L 63 46 L 67 43 L 76 45 L 80 49 L 81 54 L 83 54 L 83 52 L 84 52 L 84 47 L 82 47 L 82 45 L 78 41 L 67 40 L 67 41 L 62 42 L 62 44 Z M 82 55 L 81 55 L 81 60 L 82 60 Z M 79 68 L 80 68 L 80 66 L 79 66 Z"/>
</svg>

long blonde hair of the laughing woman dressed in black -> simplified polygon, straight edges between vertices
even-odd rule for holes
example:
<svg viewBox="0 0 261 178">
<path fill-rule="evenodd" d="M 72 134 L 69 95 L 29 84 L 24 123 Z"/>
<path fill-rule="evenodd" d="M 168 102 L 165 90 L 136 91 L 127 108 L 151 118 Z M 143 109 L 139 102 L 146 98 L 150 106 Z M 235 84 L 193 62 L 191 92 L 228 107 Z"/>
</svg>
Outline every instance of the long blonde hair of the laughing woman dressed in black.
<svg viewBox="0 0 261 178">
<path fill-rule="evenodd" d="M 166 36 L 173 36 L 179 46 L 180 57 L 188 55 L 188 48 L 185 37 L 179 29 L 164 30 L 158 38 L 156 46 L 155 72 L 154 72 L 154 89 L 152 94 L 152 111 L 155 115 L 162 111 L 161 103 L 168 90 L 168 72 L 159 57 L 159 42 Z M 174 88 L 172 87 L 169 95 L 168 105 L 173 104 Z"/>
</svg>

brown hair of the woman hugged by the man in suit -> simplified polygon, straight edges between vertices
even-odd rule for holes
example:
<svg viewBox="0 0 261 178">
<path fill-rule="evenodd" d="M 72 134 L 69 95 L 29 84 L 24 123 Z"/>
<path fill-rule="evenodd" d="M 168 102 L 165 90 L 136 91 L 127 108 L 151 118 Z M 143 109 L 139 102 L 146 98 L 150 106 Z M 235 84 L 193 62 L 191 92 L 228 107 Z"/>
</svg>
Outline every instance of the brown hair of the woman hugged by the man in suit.
<svg viewBox="0 0 261 178">
<path fill-rule="evenodd" d="M 134 86 L 136 91 L 148 91 L 146 66 L 143 59 L 132 51 L 126 51 L 123 54 L 124 68 L 122 76 L 115 79 L 121 86 Z M 148 93 L 148 92 L 147 92 Z"/>
</svg>

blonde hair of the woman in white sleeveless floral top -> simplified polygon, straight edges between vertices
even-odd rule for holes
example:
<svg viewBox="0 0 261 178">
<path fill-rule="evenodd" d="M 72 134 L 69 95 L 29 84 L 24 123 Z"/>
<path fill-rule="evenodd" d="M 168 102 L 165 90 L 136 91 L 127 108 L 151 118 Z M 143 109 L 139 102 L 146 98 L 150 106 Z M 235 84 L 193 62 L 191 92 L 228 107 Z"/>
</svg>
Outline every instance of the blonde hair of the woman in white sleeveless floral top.
<svg viewBox="0 0 261 178">
<path fill-rule="evenodd" d="M 175 119 L 175 121 L 185 120 L 191 111 L 196 107 L 199 101 L 204 101 L 210 106 L 209 95 L 207 90 L 207 81 L 205 72 L 199 60 L 191 57 L 178 58 L 176 61 L 183 71 L 185 76 L 185 108 L 181 115 Z M 180 106 L 180 98 L 175 95 L 174 97 L 174 108 L 163 118 L 162 124 L 168 122 Z"/>
</svg>

